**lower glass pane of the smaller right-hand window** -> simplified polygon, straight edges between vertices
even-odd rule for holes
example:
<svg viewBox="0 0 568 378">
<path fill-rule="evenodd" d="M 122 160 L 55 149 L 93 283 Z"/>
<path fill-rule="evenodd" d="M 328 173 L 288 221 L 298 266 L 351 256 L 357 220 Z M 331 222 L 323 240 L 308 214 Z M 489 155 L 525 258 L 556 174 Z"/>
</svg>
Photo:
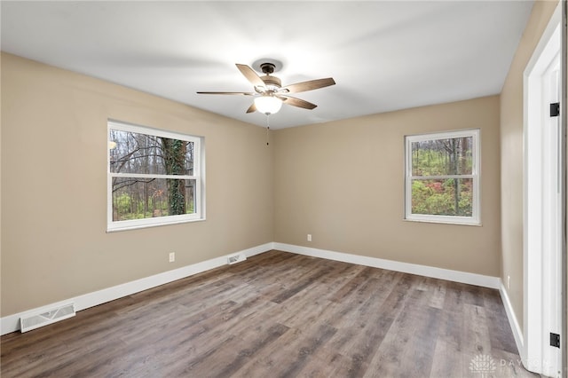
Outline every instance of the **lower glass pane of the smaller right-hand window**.
<svg viewBox="0 0 568 378">
<path fill-rule="evenodd" d="M 471 217 L 473 179 L 412 180 L 412 214 Z"/>
</svg>

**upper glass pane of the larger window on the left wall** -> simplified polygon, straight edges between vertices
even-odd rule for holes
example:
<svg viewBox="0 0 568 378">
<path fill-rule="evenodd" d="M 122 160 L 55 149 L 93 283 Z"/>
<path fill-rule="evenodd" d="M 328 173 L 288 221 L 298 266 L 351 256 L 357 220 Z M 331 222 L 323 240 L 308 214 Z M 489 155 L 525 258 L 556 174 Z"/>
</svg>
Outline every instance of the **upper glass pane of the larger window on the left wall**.
<svg viewBox="0 0 568 378">
<path fill-rule="evenodd" d="M 110 130 L 110 171 L 193 176 L 193 142 Z"/>
</svg>

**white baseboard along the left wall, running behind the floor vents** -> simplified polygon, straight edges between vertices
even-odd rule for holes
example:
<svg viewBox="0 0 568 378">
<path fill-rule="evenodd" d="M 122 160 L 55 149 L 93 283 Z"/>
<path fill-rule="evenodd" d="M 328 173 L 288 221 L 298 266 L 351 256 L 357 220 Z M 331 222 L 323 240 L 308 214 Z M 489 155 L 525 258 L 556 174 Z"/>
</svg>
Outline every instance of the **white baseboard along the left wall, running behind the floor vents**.
<svg viewBox="0 0 568 378">
<path fill-rule="evenodd" d="M 29 311 L 23 311 L 9 315 L 0 319 L 0 335 L 6 335 L 20 330 L 20 318 L 27 315 L 28 313 L 48 311 L 50 309 L 60 307 L 65 303 L 75 303 L 75 311 L 82 311 L 90 307 L 97 306 L 101 303 L 114 301 L 115 299 L 122 298 L 126 295 L 139 293 L 140 291 L 144 291 L 152 287 L 157 287 L 169 282 L 173 282 L 175 280 L 181 280 L 185 277 L 192 276 L 193 274 L 209 271 L 211 269 L 225 265 L 227 264 L 227 256 L 233 256 L 236 253 L 242 253 L 245 256 L 250 257 L 272 249 L 273 243 L 266 243 L 257 247 L 233 252 L 227 254 L 226 256 L 212 258 L 201 263 L 191 264 L 178 269 L 174 269 L 172 271 L 155 274 L 154 276 L 146 277 L 144 279 L 130 281 L 122 285 L 104 288 L 102 290 L 85 295 L 75 296 L 74 298 L 69 298 L 58 303 L 50 303 L 45 306 L 31 309 Z"/>
</svg>

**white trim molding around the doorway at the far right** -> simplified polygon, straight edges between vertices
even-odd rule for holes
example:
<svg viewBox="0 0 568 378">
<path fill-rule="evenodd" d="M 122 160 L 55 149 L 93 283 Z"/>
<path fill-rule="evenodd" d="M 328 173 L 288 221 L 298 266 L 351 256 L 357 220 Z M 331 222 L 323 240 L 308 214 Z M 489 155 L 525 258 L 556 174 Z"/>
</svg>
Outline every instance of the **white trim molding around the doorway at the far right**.
<svg viewBox="0 0 568 378">
<path fill-rule="evenodd" d="M 542 235 L 541 191 L 535 180 L 540 172 L 540 132 L 533 125 L 540 124 L 541 114 L 547 111 L 542 106 L 540 76 L 560 49 L 560 24 L 562 2 L 548 21 L 540 41 L 529 59 L 523 74 L 524 111 L 524 161 L 523 161 L 523 345 L 519 354 L 526 369 L 543 373 L 543 330 L 542 324 L 542 260 L 540 257 Z M 557 46 L 557 49 L 556 49 Z M 564 77 L 561 80 L 565 80 Z M 538 87 L 538 91 L 531 91 Z M 530 106 L 529 106 L 530 104 Z M 530 145 L 529 145 L 530 140 Z M 530 269 L 529 269 L 530 267 Z M 517 343 L 518 346 L 518 343 Z M 561 366 L 558 366 L 561 367 Z"/>
</svg>

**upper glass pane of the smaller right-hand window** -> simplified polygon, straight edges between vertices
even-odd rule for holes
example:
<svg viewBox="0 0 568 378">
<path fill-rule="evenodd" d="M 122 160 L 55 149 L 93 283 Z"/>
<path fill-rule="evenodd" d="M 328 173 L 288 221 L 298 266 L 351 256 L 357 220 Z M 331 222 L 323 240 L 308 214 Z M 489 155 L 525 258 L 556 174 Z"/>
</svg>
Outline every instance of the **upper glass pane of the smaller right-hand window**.
<svg viewBox="0 0 568 378">
<path fill-rule="evenodd" d="M 413 142 L 412 176 L 470 175 L 472 149 L 472 137 Z"/>
</svg>

